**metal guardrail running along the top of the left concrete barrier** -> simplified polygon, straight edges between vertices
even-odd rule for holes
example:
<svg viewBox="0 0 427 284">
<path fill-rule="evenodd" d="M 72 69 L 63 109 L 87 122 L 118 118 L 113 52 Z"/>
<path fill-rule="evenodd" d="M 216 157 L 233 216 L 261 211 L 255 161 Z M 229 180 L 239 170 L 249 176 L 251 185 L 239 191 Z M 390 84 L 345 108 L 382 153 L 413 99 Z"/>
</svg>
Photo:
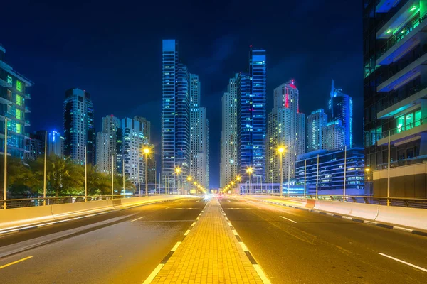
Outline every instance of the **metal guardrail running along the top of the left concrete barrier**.
<svg viewBox="0 0 427 284">
<path fill-rule="evenodd" d="M 33 198 L 20 198 L 13 200 L 0 200 L 0 209 L 4 208 L 6 203 L 7 209 L 21 208 L 21 207 L 36 207 L 43 206 L 43 202 L 46 201 L 46 205 L 54 204 L 67 204 L 77 202 L 90 202 L 97 200 L 111 200 L 111 199 L 122 199 L 127 197 L 134 197 L 132 195 L 92 195 L 92 196 L 65 196 L 65 197 L 33 197 Z"/>
</svg>

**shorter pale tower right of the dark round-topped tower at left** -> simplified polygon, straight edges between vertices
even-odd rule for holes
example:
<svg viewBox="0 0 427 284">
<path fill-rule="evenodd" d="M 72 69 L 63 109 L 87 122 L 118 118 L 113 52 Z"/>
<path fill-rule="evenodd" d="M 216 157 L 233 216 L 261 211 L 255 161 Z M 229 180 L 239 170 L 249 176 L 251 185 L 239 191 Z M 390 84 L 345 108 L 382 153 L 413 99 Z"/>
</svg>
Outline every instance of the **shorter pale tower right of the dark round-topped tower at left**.
<svg viewBox="0 0 427 284">
<path fill-rule="evenodd" d="M 105 142 L 106 138 L 109 140 L 108 143 Z M 120 119 L 113 115 L 103 117 L 102 132 L 97 133 L 96 139 L 97 170 L 101 173 L 111 173 L 112 170 L 115 173 L 122 173 L 122 129 L 120 128 Z M 117 160 L 120 163 L 117 163 Z"/>
</svg>

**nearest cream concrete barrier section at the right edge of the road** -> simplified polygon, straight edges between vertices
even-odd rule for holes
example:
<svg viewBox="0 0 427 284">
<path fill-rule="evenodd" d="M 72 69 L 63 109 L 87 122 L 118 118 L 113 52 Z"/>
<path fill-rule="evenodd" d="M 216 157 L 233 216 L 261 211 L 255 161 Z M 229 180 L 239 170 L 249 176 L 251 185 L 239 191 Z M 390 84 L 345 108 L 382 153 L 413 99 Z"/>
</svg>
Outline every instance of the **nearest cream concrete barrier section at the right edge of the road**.
<svg viewBox="0 0 427 284">
<path fill-rule="evenodd" d="M 379 206 L 375 221 L 427 230 L 427 209 Z"/>
</svg>

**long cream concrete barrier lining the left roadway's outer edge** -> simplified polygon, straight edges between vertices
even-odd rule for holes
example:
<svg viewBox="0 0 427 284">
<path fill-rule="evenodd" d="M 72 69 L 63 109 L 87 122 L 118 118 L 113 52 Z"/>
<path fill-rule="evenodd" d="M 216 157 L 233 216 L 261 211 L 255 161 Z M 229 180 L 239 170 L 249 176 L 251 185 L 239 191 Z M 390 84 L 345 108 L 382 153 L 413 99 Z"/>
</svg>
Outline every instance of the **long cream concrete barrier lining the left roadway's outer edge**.
<svg viewBox="0 0 427 284">
<path fill-rule="evenodd" d="M 0 230 L 14 229 L 41 222 L 52 222 L 67 217 L 90 214 L 109 209 L 150 204 L 166 200 L 191 197 L 189 195 L 155 195 L 149 197 L 132 197 L 117 200 L 95 200 L 90 202 L 75 202 L 38 207 L 22 207 L 0 210 Z"/>
</svg>

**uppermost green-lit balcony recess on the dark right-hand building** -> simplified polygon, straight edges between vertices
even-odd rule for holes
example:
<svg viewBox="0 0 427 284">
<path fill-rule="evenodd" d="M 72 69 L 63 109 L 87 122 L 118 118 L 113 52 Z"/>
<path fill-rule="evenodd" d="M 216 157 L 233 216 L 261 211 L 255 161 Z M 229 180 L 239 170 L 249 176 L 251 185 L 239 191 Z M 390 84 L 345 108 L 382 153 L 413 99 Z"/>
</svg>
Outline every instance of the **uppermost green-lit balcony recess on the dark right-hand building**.
<svg viewBox="0 0 427 284">
<path fill-rule="evenodd" d="M 420 11 L 419 0 L 409 0 L 376 32 L 376 39 L 388 39 L 411 21 L 411 18 Z"/>
</svg>

